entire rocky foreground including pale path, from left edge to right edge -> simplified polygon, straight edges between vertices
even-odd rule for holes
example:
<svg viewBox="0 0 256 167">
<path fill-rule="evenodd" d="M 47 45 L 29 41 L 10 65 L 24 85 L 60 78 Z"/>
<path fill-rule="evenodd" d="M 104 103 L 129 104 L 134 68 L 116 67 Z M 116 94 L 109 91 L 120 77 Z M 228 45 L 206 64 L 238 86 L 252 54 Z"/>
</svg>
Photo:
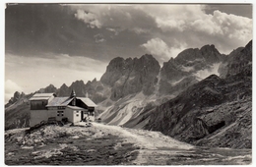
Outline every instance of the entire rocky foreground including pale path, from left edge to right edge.
<svg viewBox="0 0 256 167">
<path fill-rule="evenodd" d="M 94 123 L 5 132 L 6 165 L 237 165 L 251 149 L 193 146 L 158 132 Z"/>
</svg>

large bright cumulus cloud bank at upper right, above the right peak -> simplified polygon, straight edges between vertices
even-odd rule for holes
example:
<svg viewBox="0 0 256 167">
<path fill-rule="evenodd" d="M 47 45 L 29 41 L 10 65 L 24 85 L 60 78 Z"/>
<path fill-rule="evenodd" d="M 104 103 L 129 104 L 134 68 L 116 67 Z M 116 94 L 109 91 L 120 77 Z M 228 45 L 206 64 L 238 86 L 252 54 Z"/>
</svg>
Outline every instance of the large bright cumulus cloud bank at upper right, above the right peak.
<svg viewBox="0 0 256 167">
<path fill-rule="evenodd" d="M 248 40 L 252 34 L 252 20 L 245 17 L 214 11 L 205 13 L 204 5 L 166 5 L 144 7 L 162 31 L 199 31 L 211 35 L 225 35 Z"/>
</svg>

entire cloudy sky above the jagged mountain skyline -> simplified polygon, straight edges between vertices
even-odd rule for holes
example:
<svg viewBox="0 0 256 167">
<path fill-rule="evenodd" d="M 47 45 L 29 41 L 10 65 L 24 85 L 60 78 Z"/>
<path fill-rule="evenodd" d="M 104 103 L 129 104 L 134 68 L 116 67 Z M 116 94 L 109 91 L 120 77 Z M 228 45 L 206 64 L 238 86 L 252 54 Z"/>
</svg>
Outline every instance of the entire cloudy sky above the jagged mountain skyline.
<svg viewBox="0 0 256 167">
<path fill-rule="evenodd" d="M 224 54 L 252 39 L 246 4 L 9 4 L 5 102 L 50 83 L 100 80 L 115 57 L 159 62 L 214 44 Z"/>
</svg>

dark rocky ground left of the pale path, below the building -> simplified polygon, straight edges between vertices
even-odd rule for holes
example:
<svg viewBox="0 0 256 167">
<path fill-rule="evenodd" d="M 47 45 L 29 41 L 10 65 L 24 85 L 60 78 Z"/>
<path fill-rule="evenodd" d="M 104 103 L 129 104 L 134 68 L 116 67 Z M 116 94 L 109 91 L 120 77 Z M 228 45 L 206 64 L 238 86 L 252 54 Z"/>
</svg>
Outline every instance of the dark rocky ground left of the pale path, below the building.
<svg viewBox="0 0 256 167">
<path fill-rule="evenodd" d="M 30 135 L 9 131 L 5 139 L 6 165 L 120 165 L 138 154 L 133 143 L 95 127 L 46 126 Z"/>
</svg>

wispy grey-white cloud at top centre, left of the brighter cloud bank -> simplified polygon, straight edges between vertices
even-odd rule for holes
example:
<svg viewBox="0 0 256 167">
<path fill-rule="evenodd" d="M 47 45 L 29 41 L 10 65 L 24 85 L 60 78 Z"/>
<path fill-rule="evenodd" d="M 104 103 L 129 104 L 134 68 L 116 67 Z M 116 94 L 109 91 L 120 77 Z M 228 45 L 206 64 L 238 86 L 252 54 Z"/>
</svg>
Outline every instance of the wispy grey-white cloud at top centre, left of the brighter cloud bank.
<svg viewBox="0 0 256 167">
<path fill-rule="evenodd" d="M 156 27 L 154 19 L 145 11 L 136 8 L 137 5 L 80 5 L 71 8 L 76 11 L 76 18 L 87 24 L 96 21 L 100 28 L 105 27 L 110 31 L 146 32 L 146 29 Z M 88 16 L 90 15 L 90 16 Z M 99 28 L 99 27 L 97 27 Z M 115 30 L 114 30 L 115 29 Z"/>
</svg>

